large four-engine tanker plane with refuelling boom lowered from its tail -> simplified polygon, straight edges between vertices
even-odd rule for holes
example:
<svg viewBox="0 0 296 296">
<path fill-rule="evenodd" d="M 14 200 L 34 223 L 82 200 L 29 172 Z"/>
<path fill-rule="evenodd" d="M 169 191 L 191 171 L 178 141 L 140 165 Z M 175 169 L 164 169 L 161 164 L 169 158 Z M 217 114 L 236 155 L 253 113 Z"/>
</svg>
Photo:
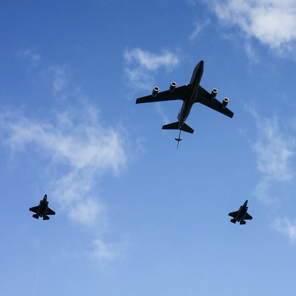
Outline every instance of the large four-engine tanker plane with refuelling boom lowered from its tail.
<svg viewBox="0 0 296 296">
<path fill-rule="evenodd" d="M 201 103 L 207 107 L 210 107 L 230 118 L 233 117 L 233 112 L 226 108 L 229 99 L 224 98 L 223 102 L 220 103 L 215 99 L 218 90 L 213 89 L 211 94 L 207 92 L 202 86 L 200 86 L 200 80 L 202 78 L 204 70 L 204 62 L 200 61 L 194 68 L 191 80 L 189 84 L 176 87 L 176 82 L 170 84 L 170 88 L 167 91 L 162 91 L 158 93 L 159 88 L 155 86 L 152 90 L 152 95 L 143 96 L 136 99 L 136 104 L 139 103 L 149 103 L 149 102 L 161 102 L 161 101 L 173 101 L 173 100 L 182 100 L 183 105 L 178 113 L 178 121 L 169 123 L 163 126 L 162 129 L 173 129 L 180 130 L 179 138 L 175 139 L 178 141 L 177 148 L 180 139 L 181 131 L 186 131 L 187 133 L 193 133 L 194 130 L 185 123 L 189 112 L 194 103 Z"/>
</svg>

